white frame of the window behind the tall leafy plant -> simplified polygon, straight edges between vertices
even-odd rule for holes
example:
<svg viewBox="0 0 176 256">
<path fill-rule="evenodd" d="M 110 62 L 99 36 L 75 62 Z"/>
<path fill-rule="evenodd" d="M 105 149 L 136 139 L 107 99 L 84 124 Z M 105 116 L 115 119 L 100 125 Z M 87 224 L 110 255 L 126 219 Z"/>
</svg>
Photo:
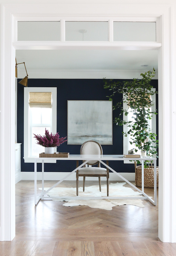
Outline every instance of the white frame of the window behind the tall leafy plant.
<svg viewBox="0 0 176 256">
<path fill-rule="evenodd" d="M 151 91 L 155 92 L 156 89 L 152 88 Z M 155 111 L 156 110 L 156 94 L 151 95 L 151 101 L 153 106 L 151 106 L 151 111 Z M 127 102 L 123 102 L 123 109 L 127 109 Z M 128 120 L 128 115 L 125 116 L 124 112 L 123 112 L 123 120 L 125 121 L 129 121 Z M 152 132 L 154 132 L 156 134 L 156 115 L 152 115 L 152 118 L 150 120 L 150 129 Z M 128 127 L 127 125 L 123 125 L 123 132 L 128 132 Z M 130 136 L 125 136 L 123 135 L 123 154 L 128 154 L 128 150 L 130 149 L 130 141 L 129 141 L 129 137 Z M 124 164 L 134 164 L 134 162 L 130 162 L 129 160 L 127 161 L 123 161 Z"/>
</svg>

